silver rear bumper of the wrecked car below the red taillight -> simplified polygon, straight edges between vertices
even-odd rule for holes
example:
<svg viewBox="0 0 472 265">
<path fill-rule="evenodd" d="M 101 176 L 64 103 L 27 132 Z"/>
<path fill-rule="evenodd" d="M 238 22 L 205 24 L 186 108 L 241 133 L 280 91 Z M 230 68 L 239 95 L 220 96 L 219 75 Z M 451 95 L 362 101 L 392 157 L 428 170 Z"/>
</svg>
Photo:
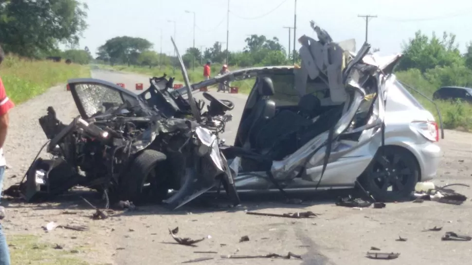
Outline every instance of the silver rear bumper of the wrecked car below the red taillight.
<svg viewBox="0 0 472 265">
<path fill-rule="evenodd" d="M 421 168 L 420 181 L 431 181 L 436 177 L 439 161 L 441 160 L 441 148 L 436 143 L 424 143 L 418 145 L 417 159 Z"/>
</svg>

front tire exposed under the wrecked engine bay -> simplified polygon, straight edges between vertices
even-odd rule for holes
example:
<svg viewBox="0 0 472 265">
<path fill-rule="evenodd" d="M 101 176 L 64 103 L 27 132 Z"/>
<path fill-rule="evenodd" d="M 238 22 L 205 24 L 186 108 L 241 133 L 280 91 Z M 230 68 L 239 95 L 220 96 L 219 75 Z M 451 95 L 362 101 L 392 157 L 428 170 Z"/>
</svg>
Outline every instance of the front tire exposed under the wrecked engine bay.
<svg viewBox="0 0 472 265">
<path fill-rule="evenodd" d="M 158 176 L 158 164 L 166 160 L 165 154 L 146 149 L 141 152 L 129 166 L 127 174 L 123 176 L 120 186 L 120 198 L 140 204 L 145 201 L 162 201 L 167 196 L 168 187 L 164 183 L 164 175 Z M 152 176 L 155 174 L 155 177 Z M 151 177 L 152 179 L 149 179 Z M 150 189 L 143 188 L 146 181 L 150 182 Z"/>
</svg>

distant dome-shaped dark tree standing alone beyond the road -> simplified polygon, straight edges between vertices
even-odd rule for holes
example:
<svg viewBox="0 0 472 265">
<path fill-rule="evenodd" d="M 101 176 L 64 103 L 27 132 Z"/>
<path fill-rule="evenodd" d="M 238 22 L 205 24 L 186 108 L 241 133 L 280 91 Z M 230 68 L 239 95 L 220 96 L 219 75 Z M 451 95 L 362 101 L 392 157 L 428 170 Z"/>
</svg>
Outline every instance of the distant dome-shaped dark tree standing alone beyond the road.
<svg viewBox="0 0 472 265">
<path fill-rule="evenodd" d="M 109 57 L 112 64 L 123 63 L 136 65 L 141 52 L 152 48 L 152 43 L 144 38 L 129 36 L 114 37 L 98 48 L 100 58 Z"/>
</svg>

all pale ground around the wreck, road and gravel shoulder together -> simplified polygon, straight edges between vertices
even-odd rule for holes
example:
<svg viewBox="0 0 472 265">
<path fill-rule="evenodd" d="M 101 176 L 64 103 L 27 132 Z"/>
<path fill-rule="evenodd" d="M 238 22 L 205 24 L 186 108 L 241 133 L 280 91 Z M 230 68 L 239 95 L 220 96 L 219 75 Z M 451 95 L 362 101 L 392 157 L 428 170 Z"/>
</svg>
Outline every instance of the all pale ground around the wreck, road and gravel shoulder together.
<svg viewBox="0 0 472 265">
<path fill-rule="evenodd" d="M 94 70 L 93 77 L 114 83 L 125 83 L 134 89 L 135 83 L 148 83 L 147 77 Z M 234 100 L 236 109 L 232 124 L 240 118 L 244 105 L 243 95 L 218 94 Z M 199 96 L 200 97 L 200 96 Z M 11 113 L 11 129 L 5 148 L 7 163 L 3 188 L 20 181 L 36 152 L 46 141 L 37 118 L 54 106 L 58 116 L 68 122 L 77 115 L 72 96 L 64 86 L 17 106 Z M 239 115 L 238 115 L 239 114 Z M 226 132 L 228 143 L 234 139 L 234 126 Z M 439 142 L 443 159 L 437 185 L 465 183 L 472 185 L 472 134 L 446 131 Z M 16 175 L 16 177 L 15 177 Z M 454 188 L 467 197 L 472 189 Z M 90 196 L 90 195 L 89 195 Z M 332 197 L 332 196 L 331 196 Z M 98 201 L 96 198 L 93 201 Z M 431 265 L 467 264 L 472 254 L 472 241 L 441 241 L 444 232 L 453 231 L 472 235 L 471 208 L 468 199 L 463 205 L 454 206 L 437 202 L 390 203 L 383 209 L 355 210 L 335 206 L 332 201 L 314 199 L 302 205 L 283 203 L 275 195 L 241 198 L 242 206 L 236 209 L 225 204 L 217 205 L 211 198 L 206 203 L 194 203 L 180 211 L 169 212 L 160 206 L 140 207 L 136 211 L 117 211 L 106 220 L 91 220 L 93 210 L 81 201 L 76 193 L 57 202 L 25 204 L 2 199 L 7 208 L 7 218 L 2 221 L 7 239 L 16 235 L 38 235 L 50 244 L 61 244 L 63 250 L 74 250 L 76 261 L 48 264 L 180 264 L 200 257 L 214 259 L 199 264 L 305 264 L 305 265 L 375 265 L 378 260 L 365 258 L 371 247 L 385 252 L 400 252 L 396 260 L 388 263 Z M 321 214 L 309 219 L 246 215 L 244 210 L 267 213 L 312 211 Z M 67 212 L 66 212 L 67 211 Z M 42 226 L 55 221 L 58 224 L 85 224 L 89 231 L 78 232 L 56 228 L 44 232 Z M 177 245 L 168 229 L 179 227 L 180 236 L 193 239 L 205 237 L 197 247 Z M 422 232 L 432 227 L 443 227 L 439 232 Z M 239 243 L 241 236 L 250 241 Z M 406 242 L 398 242 L 401 236 Z M 15 248 L 12 246 L 11 248 Z M 14 249 L 12 249 L 14 250 Z M 32 249 L 31 251 L 35 251 Z M 54 253 L 57 249 L 46 249 Z M 195 253 L 216 251 L 218 253 Z M 261 255 L 268 253 L 302 255 L 303 260 L 281 259 L 222 259 L 221 255 Z M 12 257 L 12 263 L 18 264 Z M 37 263 L 44 264 L 44 263 Z"/>
</svg>

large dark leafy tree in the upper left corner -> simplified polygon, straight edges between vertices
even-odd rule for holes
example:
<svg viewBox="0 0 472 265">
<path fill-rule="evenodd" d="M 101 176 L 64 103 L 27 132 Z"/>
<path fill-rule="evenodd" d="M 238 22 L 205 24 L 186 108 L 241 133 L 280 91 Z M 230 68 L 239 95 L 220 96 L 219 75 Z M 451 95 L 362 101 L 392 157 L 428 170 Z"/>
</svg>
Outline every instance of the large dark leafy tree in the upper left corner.
<svg viewBox="0 0 472 265">
<path fill-rule="evenodd" d="M 87 28 L 87 5 L 78 0 L 0 1 L 0 40 L 5 52 L 41 57 L 59 43 L 76 45 Z"/>
</svg>

